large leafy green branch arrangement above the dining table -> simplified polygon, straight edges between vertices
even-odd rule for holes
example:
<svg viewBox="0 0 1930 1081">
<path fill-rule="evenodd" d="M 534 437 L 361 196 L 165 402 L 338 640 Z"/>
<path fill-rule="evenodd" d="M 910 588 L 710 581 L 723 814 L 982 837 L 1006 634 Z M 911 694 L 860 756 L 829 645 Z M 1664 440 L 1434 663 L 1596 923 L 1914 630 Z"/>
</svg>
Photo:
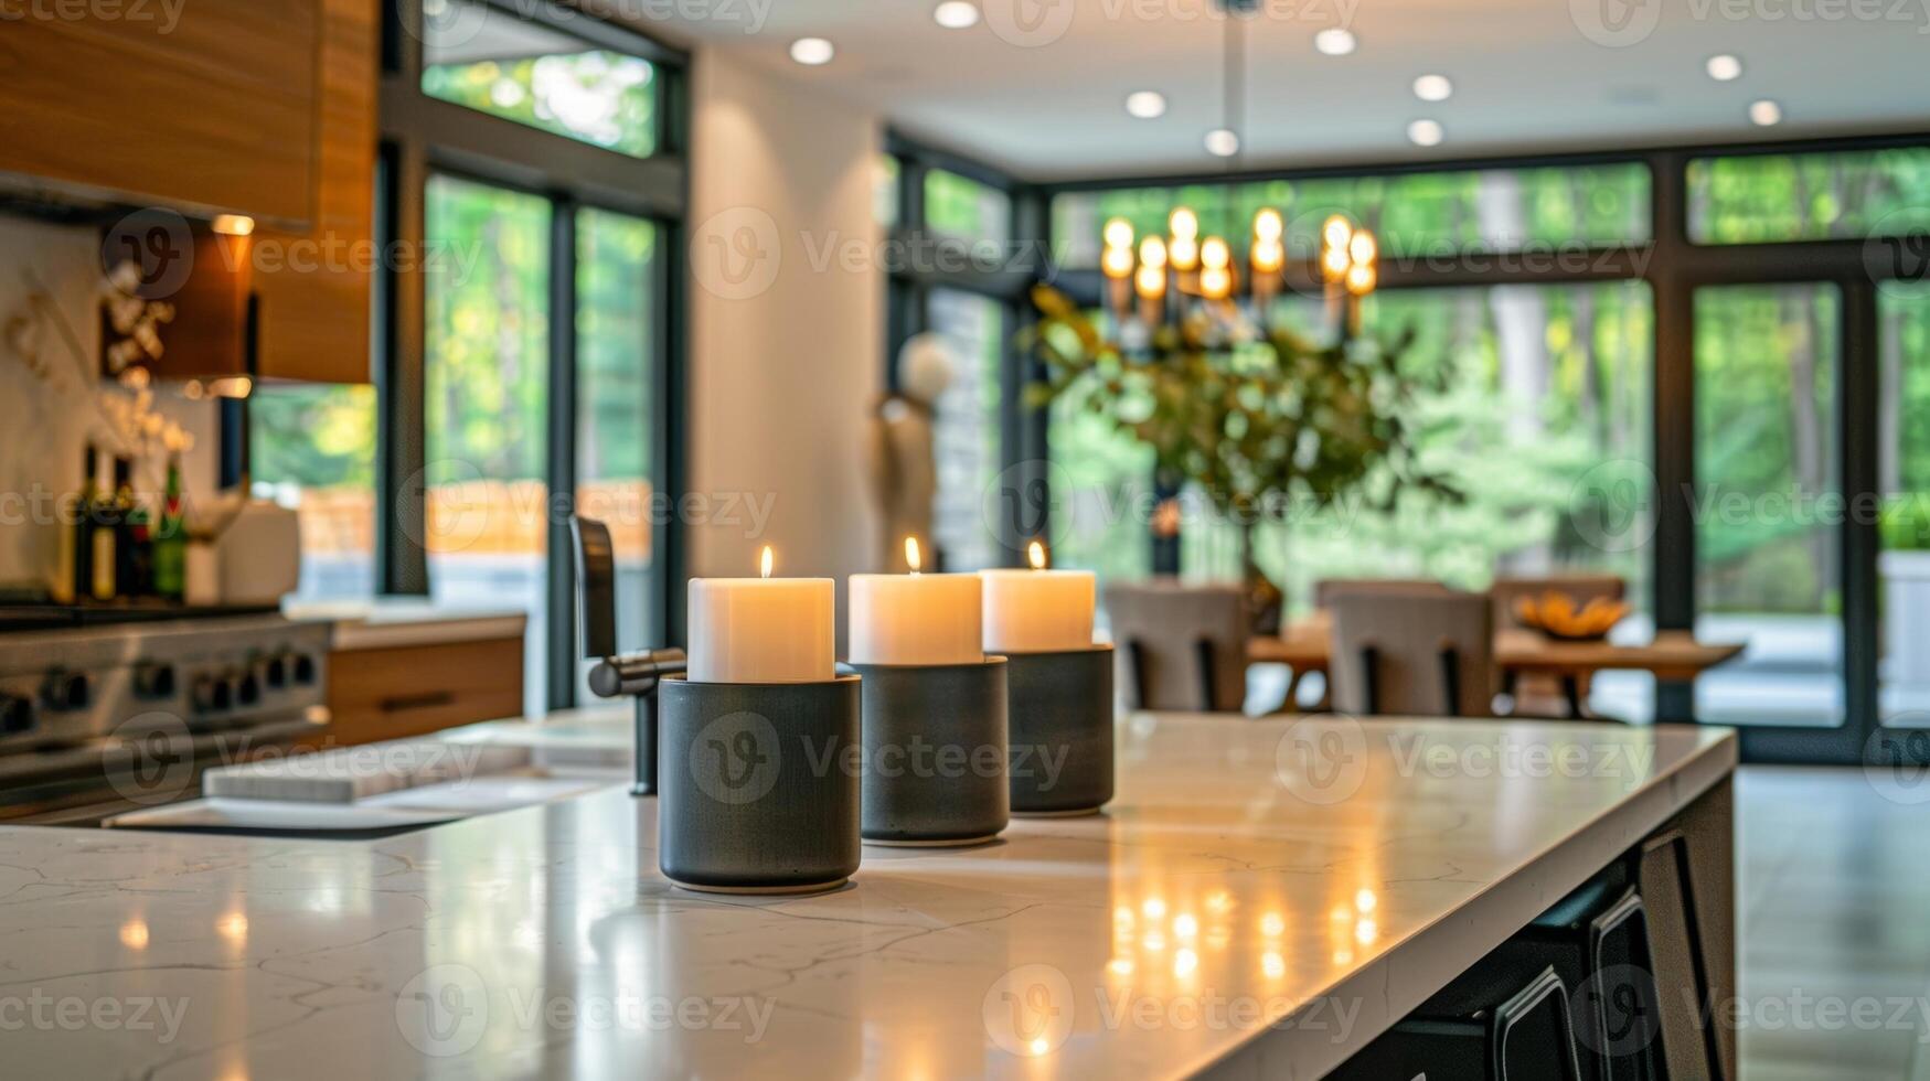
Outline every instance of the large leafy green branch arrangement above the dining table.
<svg viewBox="0 0 1930 1081">
<path fill-rule="evenodd" d="M 1079 390 L 1081 407 L 1148 446 L 1168 486 L 1191 483 L 1243 527 L 1405 492 L 1459 500 L 1451 479 L 1417 456 L 1415 403 L 1446 390 L 1446 371 L 1413 373 L 1401 336 L 1318 344 L 1254 326 L 1231 305 L 1200 305 L 1143 342 L 1110 340 L 1065 293 L 1036 286 L 1038 322 L 1021 347 L 1044 369 L 1027 388 L 1040 407 Z M 1249 583 L 1266 593 L 1245 552 Z M 1278 591 L 1274 591 L 1278 598 Z"/>
</svg>

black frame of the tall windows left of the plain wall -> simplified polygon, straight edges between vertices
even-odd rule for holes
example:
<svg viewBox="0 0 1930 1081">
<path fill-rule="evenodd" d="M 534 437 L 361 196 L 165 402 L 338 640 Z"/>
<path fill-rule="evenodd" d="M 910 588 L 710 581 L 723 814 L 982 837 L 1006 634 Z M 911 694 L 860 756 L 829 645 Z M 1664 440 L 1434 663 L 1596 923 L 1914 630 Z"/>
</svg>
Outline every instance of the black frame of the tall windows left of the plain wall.
<svg viewBox="0 0 1930 1081">
<path fill-rule="evenodd" d="M 650 290 L 652 492 L 677 506 L 687 479 L 685 442 L 685 210 L 689 205 L 689 56 L 654 37 L 544 0 L 469 0 L 494 17 L 517 19 L 583 39 L 594 46 L 648 60 L 658 87 L 656 151 L 637 158 L 490 116 L 423 93 L 421 0 L 386 0 L 382 17 L 380 149 L 376 160 L 376 239 L 386 251 L 423 251 L 427 189 L 434 174 L 523 191 L 546 199 L 550 216 L 548 340 L 548 539 L 544 608 L 546 707 L 577 703 L 581 627 L 575 618 L 575 568 L 567 512 L 577 481 L 577 212 L 610 210 L 656 228 Z M 425 282 L 388 261 L 376 284 L 374 376 L 376 436 L 376 591 L 384 596 L 428 593 L 428 556 L 421 537 L 427 500 L 427 299 Z M 681 583 L 689 552 L 676 515 L 652 521 L 647 610 L 652 643 L 683 641 Z"/>
</svg>

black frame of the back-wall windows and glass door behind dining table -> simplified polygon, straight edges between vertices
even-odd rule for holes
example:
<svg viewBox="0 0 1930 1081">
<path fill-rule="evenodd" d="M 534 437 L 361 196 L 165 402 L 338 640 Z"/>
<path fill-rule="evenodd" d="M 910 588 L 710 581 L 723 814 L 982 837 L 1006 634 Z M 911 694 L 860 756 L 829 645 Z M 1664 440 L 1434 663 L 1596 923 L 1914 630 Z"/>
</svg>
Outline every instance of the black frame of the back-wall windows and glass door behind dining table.
<svg viewBox="0 0 1930 1081">
<path fill-rule="evenodd" d="M 1365 178 L 1500 168 L 1563 168 L 1640 162 L 1650 172 L 1650 239 L 1588 247 L 1586 266 L 1498 264 L 1494 259 L 1384 259 L 1382 290 L 1453 286 L 1575 284 L 1642 280 L 1654 303 L 1652 459 L 1656 475 L 1656 533 L 1650 539 L 1650 581 L 1658 631 L 1693 631 L 1696 620 L 1696 550 L 1691 500 L 1695 461 L 1695 291 L 1704 286 L 1822 282 L 1841 290 L 1841 326 L 1835 349 L 1837 454 L 1841 492 L 1857 498 L 1878 492 L 1878 274 L 1866 261 L 1864 239 L 1803 239 L 1714 245 L 1689 239 L 1689 162 L 1714 156 L 1806 154 L 1930 147 L 1930 133 L 1905 131 L 1841 139 L 1787 139 L 1729 145 L 1612 149 L 1559 154 L 1503 154 L 1444 160 L 1390 160 L 1272 168 L 1214 174 L 1106 176 L 1031 185 L 1040 201 L 1042 236 L 1050 236 L 1050 203 L 1056 195 L 1129 187 L 1222 185 L 1268 180 Z M 1492 255 L 1492 253 L 1490 253 Z M 1309 268 L 1289 266 L 1289 274 Z M 1895 278 L 1895 274 L 1882 274 Z M 1930 278 L 1918 264 L 1913 280 Z M 1077 301 L 1102 297 L 1098 270 L 1058 270 L 1056 286 Z M 1007 398 L 1009 398 L 1007 390 Z M 1042 417 L 1033 419 L 1044 425 Z M 1042 432 L 1036 446 L 1048 448 Z M 1880 494 L 1880 492 L 1878 492 Z M 1889 737 L 1878 703 L 1878 571 L 1874 521 L 1845 515 L 1837 525 L 1839 585 L 1843 595 L 1843 693 L 1845 718 L 1835 728 L 1743 726 L 1741 753 L 1749 762 L 1895 764 L 1909 757 L 1909 741 Z M 1148 537 L 1150 542 L 1150 537 Z M 1693 683 L 1658 681 L 1658 722 L 1695 722 Z M 1920 747 L 1922 741 L 1916 741 Z M 1924 764 L 1924 762 L 1918 762 Z"/>
</svg>

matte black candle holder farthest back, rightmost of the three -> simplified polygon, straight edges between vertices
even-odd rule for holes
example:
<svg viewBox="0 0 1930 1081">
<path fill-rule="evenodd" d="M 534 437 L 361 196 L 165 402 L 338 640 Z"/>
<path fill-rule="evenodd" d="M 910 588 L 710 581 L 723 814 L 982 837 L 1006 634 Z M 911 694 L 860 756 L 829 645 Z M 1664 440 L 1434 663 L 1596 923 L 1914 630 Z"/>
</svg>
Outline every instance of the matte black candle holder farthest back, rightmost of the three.
<svg viewBox="0 0 1930 1081">
<path fill-rule="evenodd" d="M 1094 815 L 1112 799 L 1112 647 L 1007 652 L 1011 815 Z"/>
</svg>

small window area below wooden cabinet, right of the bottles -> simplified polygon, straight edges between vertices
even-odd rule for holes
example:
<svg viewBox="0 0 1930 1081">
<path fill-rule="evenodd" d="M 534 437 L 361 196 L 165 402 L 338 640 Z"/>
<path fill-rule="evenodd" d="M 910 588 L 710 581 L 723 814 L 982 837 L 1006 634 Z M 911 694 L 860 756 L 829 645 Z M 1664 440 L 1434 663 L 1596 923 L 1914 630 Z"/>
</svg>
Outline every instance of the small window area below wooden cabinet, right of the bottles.
<svg viewBox="0 0 1930 1081">
<path fill-rule="evenodd" d="M 374 595 L 374 388 L 257 386 L 247 407 L 253 494 L 299 519 L 295 598 Z"/>
</svg>

